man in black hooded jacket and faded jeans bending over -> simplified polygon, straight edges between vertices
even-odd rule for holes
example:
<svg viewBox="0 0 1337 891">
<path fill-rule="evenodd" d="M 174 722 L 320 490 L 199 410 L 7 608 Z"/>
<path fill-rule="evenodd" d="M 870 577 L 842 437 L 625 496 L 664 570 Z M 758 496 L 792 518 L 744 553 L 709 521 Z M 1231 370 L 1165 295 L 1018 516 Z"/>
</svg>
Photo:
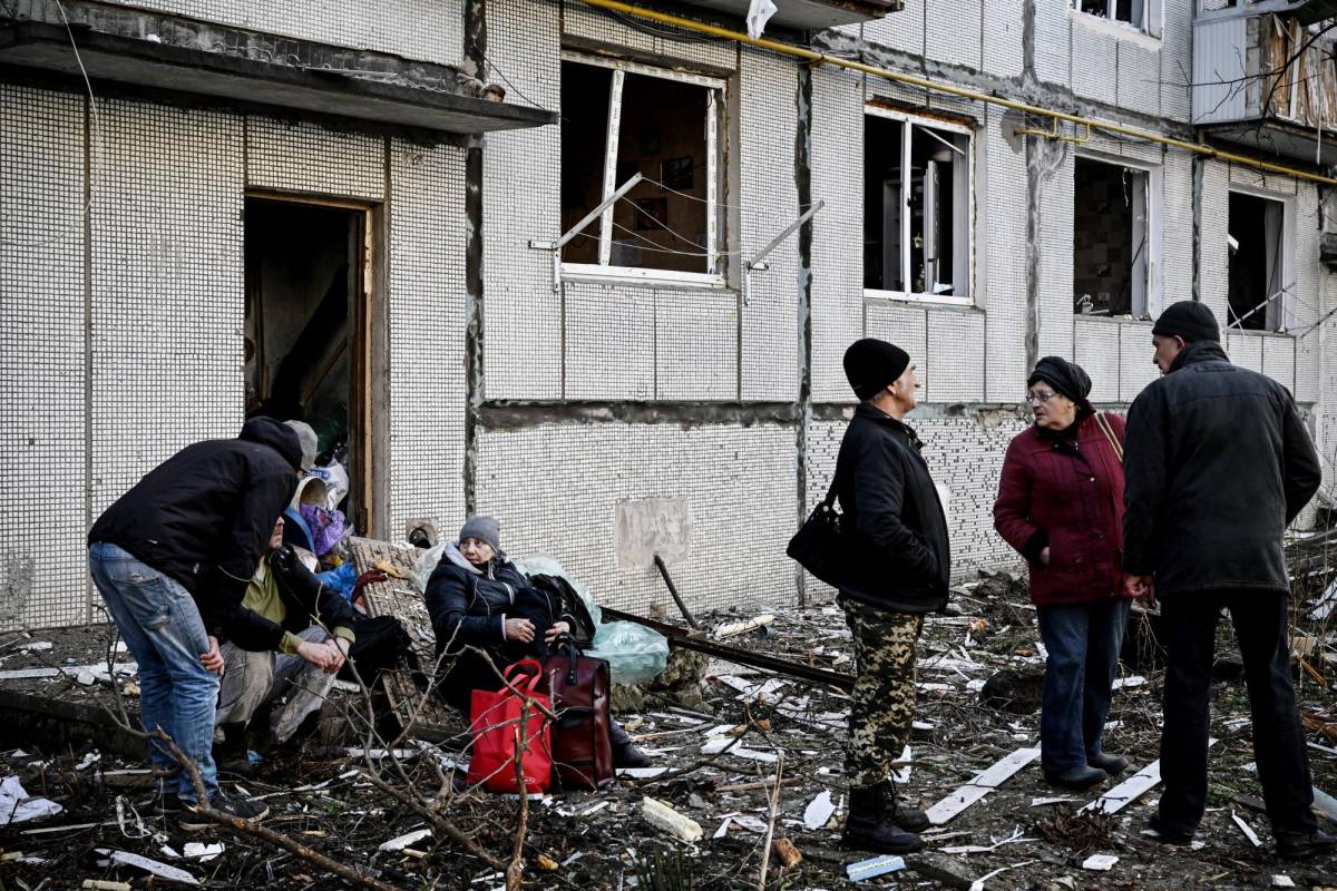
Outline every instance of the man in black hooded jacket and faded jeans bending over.
<svg viewBox="0 0 1337 891">
<path fill-rule="evenodd" d="M 235 439 L 197 442 L 160 464 L 88 533 L 94 582 L 139 663 L 144 729 L 160 727 L 199 765 L 214 808 L 246 819 L 269 810 L 229 799 L 210 753 L 219 640 L 301 469 L 294 429 L 253 418 Z M 163 773 L 176 768 L 162 744 L 150 756 Z M 176 801 L 195 803 L 186 771 L 163 791 L 164 807 Z"/>
</svg>

